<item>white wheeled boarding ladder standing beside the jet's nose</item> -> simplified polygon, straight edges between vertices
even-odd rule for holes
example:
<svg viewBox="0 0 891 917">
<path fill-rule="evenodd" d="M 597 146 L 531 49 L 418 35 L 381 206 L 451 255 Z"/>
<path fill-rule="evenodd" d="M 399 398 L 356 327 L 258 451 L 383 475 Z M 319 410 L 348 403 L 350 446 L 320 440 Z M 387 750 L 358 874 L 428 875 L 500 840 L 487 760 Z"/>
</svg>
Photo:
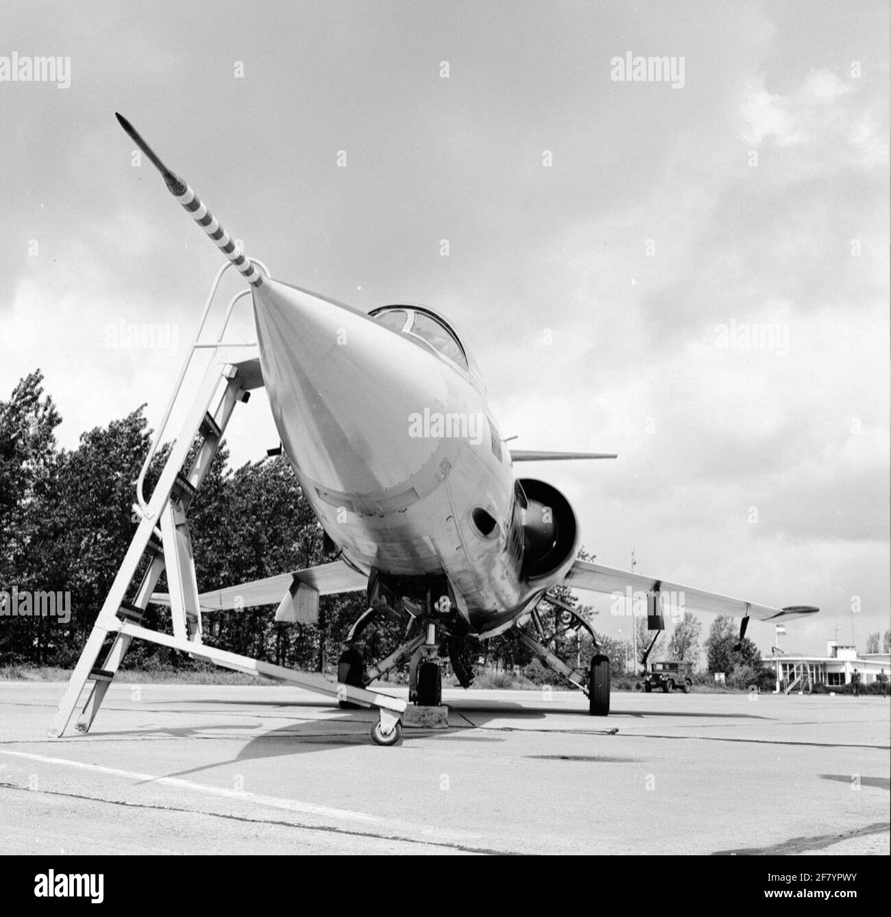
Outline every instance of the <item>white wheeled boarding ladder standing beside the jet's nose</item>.
<svg viewBox="0 0 891 917">
<path fill-rule="evenodd" d="M 269 276 L 262 262 L 254 263 Z M 207 659 L 225 668 L 289 682 L 308 691 L 336 697 L 338 701 L 377 707 L 380 711 L 377 725 L 383 735 L 391 735 L 407 706 L 405 701 L 377 691 L 337 684 L 321 674 L 300 672 L 239 656 L 213 646 L 205 646 L 201 641 L 201 607 L 187 512 L 220 446 L 236 404 L 247 402 L 250 392 L 263 386 L 256 344 L 227 344 L 223 341 L 236 303 L 247 296 L 249 290 L 237 293 L 229 302 L 219 334 L 209 341 L 203 340 L 203 329 L 214 295 L 224 272 L 231 266 L 230 263 L 225 264 L 216 274 L 195 340 L 183 362 L 159 428 L 152 438 L 137 480 L 137 503 L 134 504 L 134 510 L 139 523 L 136 533 L 93 624 L 93 631 L 83 647 L 81 657 L 71 673 L 68 688 L 49 728 L 50 736 L 64 735 L 78 707 L 81 713 L 75 728 L 81 733 L 89 731 L 133 639 L 181 650 L 192 657 Z M 146 474 L 158 452 L 170 414 L 181 396 L 186 372 L 195 353 L 208 349 L 212 353 L 203 381 L 179 434 L 172 441 L 158 483 L 147 500 L 143 493 Z M 138 579 L 136 590 L 132 591 L 144 558 L 148 564 Z M 172 636 L 142 624 L 148 603 L 164 570 L 167 571 L 170 593 Z M 127 601 L 127 594 L 131 591 L 132 598 Z M 85 688 L 89 688 L 89 693 L 81 706 Z"/>
</svg>

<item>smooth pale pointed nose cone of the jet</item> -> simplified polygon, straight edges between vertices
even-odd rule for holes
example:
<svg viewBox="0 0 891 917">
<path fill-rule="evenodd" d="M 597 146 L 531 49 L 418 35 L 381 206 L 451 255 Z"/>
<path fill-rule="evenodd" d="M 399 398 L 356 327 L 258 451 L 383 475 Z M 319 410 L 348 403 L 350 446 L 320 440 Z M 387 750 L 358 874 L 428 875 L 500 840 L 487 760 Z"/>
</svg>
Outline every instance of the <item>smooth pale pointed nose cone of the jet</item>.
<svg viewBox="0 0 891 917">
<path fill-rule="evenodd" d="M 315 293 L 264 281 L 253 296 L 263 379 L 298 474 L 374 493 L 424 467 L 437 443 L 411 436 L 410 416 L 446 410 L 437 359 Z"/>
</svg>

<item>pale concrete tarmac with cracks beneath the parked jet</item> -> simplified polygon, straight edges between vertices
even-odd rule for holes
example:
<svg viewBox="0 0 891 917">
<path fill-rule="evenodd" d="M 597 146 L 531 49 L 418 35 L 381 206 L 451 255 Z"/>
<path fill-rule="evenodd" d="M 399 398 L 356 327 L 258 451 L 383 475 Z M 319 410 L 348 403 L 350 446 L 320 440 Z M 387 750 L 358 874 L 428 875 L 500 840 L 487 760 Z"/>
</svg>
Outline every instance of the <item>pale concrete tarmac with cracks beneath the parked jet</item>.
<svg viewBox="0 0 891 917">
<path fill-rule="evenodd" d="M 891 852 L 878 697 L 446 691 L 382 748 L 260 684 L 115 682 L 49 739 L 63 689 L 0 682 L 0 854 Z"/>
</svg>

